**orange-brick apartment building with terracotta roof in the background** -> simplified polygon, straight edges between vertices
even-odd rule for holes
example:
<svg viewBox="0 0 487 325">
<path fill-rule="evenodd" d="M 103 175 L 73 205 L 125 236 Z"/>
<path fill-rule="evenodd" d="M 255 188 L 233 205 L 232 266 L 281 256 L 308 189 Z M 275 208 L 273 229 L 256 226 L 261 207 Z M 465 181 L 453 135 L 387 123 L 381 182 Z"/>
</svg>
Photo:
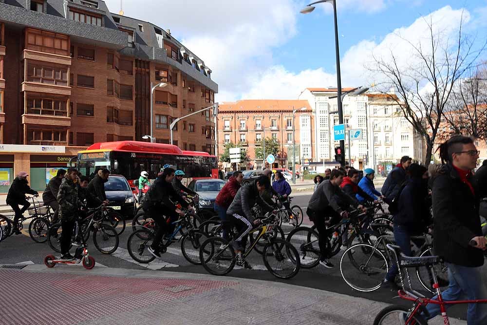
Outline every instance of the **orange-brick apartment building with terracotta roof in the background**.
<svg viewBox="0 0 487 325">
<path fill-rule="evenodd" d="M 293 111 L 296 111 L 294 119 Z M 255 149 L 261 146 L 264 138 L 276 139 L 281 145 L 273 167 L 291 169 L 293 134 L 297 170 L 302 164 L 316 159 L 312 146 L 315 142 L 314 116 L 307 100 L 224 102 L 219 105 L 217 118 L 219 152 L 223 152 L 226 142 L 239 143 L 250 157 L 246 169 L 262 169 L 262 158 L 257 159 Z"/>
</svg>

